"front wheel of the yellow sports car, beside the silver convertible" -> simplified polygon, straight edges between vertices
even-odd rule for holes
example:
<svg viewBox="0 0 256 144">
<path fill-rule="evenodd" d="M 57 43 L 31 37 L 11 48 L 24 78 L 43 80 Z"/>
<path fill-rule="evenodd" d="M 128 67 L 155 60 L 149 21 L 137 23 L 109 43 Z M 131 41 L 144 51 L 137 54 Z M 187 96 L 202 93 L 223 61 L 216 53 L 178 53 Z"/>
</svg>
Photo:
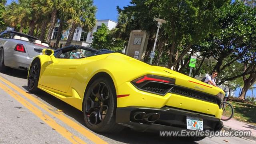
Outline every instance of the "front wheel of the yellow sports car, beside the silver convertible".
<svg viewBox="0 0 256 144">
<path fill-rule="evenodd" d="M 29 72 L 28 72 L 28 91 L 31 93 L 38 92 L 38 80 L 40 76 L 40 61 L 34 60 L 30 65 Z"/>
</svg>

